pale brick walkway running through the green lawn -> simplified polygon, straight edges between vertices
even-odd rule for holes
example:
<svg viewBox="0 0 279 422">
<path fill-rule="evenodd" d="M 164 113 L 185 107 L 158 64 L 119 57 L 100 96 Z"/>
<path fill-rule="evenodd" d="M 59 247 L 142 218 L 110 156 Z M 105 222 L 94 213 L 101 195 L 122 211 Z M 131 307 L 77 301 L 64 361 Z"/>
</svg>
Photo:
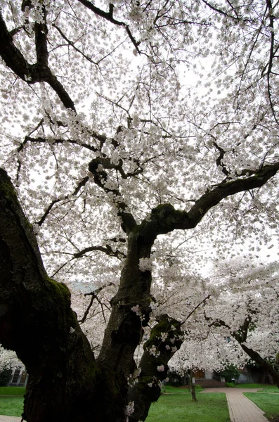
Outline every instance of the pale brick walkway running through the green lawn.
<svg viewBox="0 0 279 422">
<path fill-rule="evenodd" d="M 202 392 L 226 393 L 231 422 L 268 422 L 264 417 L 264 411 L 243 394 L 243 392 L 257 392 L 254 388 L 206 388 Z"/>
</svg>

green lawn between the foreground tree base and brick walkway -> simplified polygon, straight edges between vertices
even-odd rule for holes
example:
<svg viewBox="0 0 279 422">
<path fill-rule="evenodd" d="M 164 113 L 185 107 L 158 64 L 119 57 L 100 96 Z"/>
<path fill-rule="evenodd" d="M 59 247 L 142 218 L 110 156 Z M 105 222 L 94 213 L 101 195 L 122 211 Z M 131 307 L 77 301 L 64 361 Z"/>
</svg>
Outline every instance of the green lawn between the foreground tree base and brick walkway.
<svg viewBox="0 0 279 422">
<path fill-rule="evenodd" d="M 151 405 L 146 422 L 230 422 L 224 393 L 197 392 L 192 402 L 188 390 L 167 386 L 166 392 Z"/>
</svg>

